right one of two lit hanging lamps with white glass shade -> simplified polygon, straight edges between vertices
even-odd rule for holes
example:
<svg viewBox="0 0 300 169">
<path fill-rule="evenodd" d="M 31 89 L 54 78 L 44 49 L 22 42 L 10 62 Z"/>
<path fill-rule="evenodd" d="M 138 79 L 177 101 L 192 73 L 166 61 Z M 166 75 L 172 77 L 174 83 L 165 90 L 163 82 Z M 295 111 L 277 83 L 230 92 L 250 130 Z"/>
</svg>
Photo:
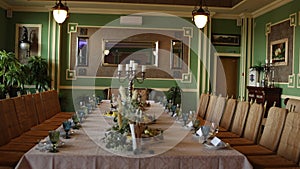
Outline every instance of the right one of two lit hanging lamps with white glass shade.
<svg viewBox="0 0 300 169">
<path fill-rule="evenodd" d="M 202 0 L 200 0 L 199 9 L 195 7 L 195 9 L 192 11 L 192 15 L 195 25 L 200 29 L 204 28 L 208 21 L 209 11 L 207 7 L 205 8 L 205 10 L 202 8 Z"/>
</svg>

